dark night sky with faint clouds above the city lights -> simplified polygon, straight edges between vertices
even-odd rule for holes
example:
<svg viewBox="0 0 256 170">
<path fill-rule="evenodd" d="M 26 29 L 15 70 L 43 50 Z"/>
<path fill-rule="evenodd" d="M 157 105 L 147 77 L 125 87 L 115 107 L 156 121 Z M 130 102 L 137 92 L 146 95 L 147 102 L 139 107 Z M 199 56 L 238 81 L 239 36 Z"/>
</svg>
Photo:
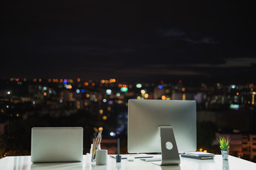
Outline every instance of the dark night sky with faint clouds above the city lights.
<svg viewBox="0 0 256 170">
<path fill-rule="evenodd" d="M 1 77 L 256 81 L 250 1 L 1 2 Z"/>
</svg>

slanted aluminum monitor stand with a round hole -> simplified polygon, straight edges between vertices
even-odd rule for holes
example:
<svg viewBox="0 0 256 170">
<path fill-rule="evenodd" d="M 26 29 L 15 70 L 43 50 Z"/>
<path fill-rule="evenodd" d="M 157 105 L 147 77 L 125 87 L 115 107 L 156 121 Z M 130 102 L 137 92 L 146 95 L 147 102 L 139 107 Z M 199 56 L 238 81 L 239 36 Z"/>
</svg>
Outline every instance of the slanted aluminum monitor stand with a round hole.
<svg viewBox="0 0 256 170">
<path fill-rule="evenodd" d="M 181 159 L 178 155 L 178 148 L 174 137 L 172 126 L 160 126 L 161 135 L 161 163 L 159 165 L 178 165 Z M 158 164 L 152 162 L 153 164 Z"/>
</svg>

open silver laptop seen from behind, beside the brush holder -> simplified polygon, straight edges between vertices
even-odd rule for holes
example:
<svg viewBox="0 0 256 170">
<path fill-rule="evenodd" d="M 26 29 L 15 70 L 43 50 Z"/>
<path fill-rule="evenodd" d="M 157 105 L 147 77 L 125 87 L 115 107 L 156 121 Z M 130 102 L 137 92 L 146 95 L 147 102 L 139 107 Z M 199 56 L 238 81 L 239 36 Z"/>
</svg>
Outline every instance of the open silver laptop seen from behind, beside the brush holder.
<svg viewBox="0 0 256 170">
<path fill-rule="evenodd" d="M 32 128 L 31 162 L 82 162 L 80 127 Z"/>
</svg>

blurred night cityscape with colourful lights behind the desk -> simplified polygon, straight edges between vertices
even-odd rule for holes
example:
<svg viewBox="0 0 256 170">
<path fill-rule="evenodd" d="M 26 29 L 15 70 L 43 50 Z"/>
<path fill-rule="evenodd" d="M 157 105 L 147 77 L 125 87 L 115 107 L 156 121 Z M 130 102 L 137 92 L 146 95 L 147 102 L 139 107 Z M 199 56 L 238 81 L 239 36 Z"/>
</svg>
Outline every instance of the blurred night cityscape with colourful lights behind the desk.
<svg viewBox="0 0 256 170">
<path fill-rule="evenodd" d="M 0 79 L 0 157 L 29 155 L 32 127 L 81 126 L 84 154 L 93 128 L 103 127 L 102 148 L 127 153 L 130 98 L 196 100 L 198 151 L 220 154 L 218 137 L 230 137 L 230 154 L 256 162 L 255 84 L 149 82 L 117 79 Z"/>
</svg>

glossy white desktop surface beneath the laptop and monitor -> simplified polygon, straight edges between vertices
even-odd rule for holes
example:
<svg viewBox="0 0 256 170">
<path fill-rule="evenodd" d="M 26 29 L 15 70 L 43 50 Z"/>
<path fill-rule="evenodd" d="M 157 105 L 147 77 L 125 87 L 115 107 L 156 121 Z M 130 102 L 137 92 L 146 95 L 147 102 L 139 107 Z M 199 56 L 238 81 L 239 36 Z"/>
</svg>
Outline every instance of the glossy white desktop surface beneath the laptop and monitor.
<svg viewBox="0 0 256 170">
<path fill-rule="evenodd" d="M 0 159 L 1 170 L 184 170 L 184 169 L 222 169 L 222 170 L 256 170 L 256 164 L 248 162 L 237 157 L 229 156 L 228 161 L 223 161 L 221 155 L 215 155 L 215 159 L 210 160 L 199 160 L 181 157 L 181 164 L 179 166 L 158 166 L 151 164 L 151 162 L 144 162 L 139 159 L 135 159 L 134 162 L 128 162 L 126 159 L 122 159 L 121 163 L 116 163 L 115 159 L 108 157 L 107 165 L 92 166 L 90 157 L 87 155 L 83 156 L 83 161 L 80 163 L 38 163 L 32 164 L 30 156 L 23 157 L 5 157 Z"/>
</svg>

